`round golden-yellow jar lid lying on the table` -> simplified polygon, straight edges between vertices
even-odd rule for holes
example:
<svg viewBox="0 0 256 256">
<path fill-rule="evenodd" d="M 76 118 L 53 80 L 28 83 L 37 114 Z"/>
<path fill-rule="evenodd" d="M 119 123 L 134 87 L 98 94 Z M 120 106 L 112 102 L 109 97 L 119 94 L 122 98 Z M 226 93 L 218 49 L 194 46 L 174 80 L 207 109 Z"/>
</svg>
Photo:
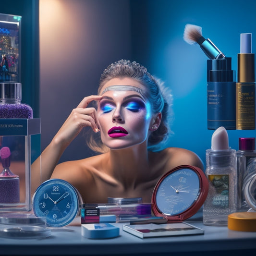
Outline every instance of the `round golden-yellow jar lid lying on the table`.
<svg viewBox="0 0 256 256">
<path fill-rule="evenodd" d="M 256 232 L 256 212 L 234 212 L 228 216 L 228 228 Z"/>
</svg>

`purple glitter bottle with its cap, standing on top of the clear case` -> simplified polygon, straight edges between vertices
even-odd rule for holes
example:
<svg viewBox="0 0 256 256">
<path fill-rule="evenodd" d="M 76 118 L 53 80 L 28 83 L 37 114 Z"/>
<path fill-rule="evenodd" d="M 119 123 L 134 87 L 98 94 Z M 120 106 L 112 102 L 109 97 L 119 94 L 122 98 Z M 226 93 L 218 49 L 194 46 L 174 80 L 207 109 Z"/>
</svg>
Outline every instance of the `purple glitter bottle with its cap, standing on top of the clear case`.
<svg viewBox="0 0 256 256">
<path fill-rule="evenodd" d="M 22 90 L 20 83 L 1 83 L 0 118 L 33 118 L 32 108 L 21 103 Z"/>
</svg>

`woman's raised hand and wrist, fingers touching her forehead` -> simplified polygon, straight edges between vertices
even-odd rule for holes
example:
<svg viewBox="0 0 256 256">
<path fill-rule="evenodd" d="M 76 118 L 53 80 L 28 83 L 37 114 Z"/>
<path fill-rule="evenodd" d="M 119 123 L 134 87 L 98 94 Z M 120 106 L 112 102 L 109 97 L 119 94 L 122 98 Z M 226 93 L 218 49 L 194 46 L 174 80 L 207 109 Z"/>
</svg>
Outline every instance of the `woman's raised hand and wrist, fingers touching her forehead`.
<svg viewBox="0 0 256 256">
<path fill-rule="evenodd" d="M 54 140 L 61 143 L 62 146 L 68 146 L 73 139 L 80 133 L 83 127 L 90 126 L 94 132 L 98 132 L 98 118 L 95 108 L 87 108 L 93 100 L 100 100 L 102 96 L 91 95 L 85 97 L 73 109 L 67 120 L 61 126 L 61 129 L 55 135 Z"/>
</svg>

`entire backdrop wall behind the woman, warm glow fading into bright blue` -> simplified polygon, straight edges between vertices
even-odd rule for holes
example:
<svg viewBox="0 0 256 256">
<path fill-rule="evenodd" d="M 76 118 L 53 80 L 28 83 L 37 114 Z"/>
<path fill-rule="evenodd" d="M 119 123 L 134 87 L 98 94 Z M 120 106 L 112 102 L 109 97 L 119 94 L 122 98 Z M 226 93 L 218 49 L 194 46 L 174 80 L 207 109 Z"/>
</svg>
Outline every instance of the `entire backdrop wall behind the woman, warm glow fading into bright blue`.
<svg viewBox="0 0 256 256">
<path fill-rule="evenodd" d="M 183 40 L 185 24 L 202 26 L 237 70 L 240 33 L 252 33 L 256 51 L 256 1 L 252 0 L 40 0 L 40 117 L 42 149 L 81 99 L 97 92 L 104 68 L 119 59 L 145 65 L 173 94 L 173 135 L 205 162 L 213 131 L 207 130 L 207 56 Z M 45 12 L 42 7 L 45 8 Z M 55 5 L 55 4 L 56 5 Z M 74 60 L 76 61 L 75 65 Z M 252 131 L 228 131 L 230 146 Z M 83 134 L 61 161 L 93 155 Z"/>
</svg>

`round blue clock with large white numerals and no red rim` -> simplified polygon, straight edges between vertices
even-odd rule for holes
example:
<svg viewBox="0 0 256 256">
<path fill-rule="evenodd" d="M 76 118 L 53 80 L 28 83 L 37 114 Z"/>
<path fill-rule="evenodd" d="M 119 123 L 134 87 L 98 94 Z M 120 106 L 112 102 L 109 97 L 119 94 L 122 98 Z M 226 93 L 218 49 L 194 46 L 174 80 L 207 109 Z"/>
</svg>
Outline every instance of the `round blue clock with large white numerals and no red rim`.
<svg viewBox="0 0 256 256">
<path fill-rule="evenodd" d="M 68 182 L 50 179 L 42 183 L 35 192 L 33 210 L 37 217 L 46 217 L 52 227 L 69 224 L 79 210 L 79 196 L 76 189 Z"/>
</svg>

